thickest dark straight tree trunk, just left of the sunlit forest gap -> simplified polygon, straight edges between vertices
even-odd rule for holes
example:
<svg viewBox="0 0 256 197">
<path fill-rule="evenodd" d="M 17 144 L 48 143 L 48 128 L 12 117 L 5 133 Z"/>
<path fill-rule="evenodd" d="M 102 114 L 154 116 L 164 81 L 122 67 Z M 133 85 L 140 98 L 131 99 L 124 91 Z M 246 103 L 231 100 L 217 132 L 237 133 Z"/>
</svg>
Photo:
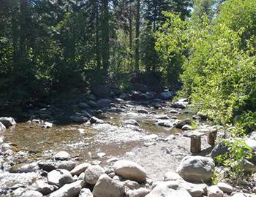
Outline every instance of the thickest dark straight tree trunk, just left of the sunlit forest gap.
<svg viewBox="0 0 256 197">
<path fill-rule="evenodd" d="M 102 12 L 102 63 L 105 72 L 109 68 L 110 59 L 110 43 L 109 43 L 109 17 L 108 17 L 108 0 L 103 1 L 103 12 Z"/>
</svg>

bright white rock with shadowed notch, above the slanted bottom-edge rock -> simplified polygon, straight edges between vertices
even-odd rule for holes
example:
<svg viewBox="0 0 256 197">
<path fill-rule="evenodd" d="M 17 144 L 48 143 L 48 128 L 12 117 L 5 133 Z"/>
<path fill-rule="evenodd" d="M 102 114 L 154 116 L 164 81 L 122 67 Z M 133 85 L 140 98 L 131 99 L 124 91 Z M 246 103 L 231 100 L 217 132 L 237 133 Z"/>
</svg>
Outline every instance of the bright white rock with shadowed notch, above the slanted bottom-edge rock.
<svg viewBox="0 0 256 197">
<path fill-rule="evenodd" d="M 48 184 L 60 186 L 61 177 L 66 177 L 65 179 L 68 179 L 67 182 L 69 182 L 69 180 L 72 179 L 72 175 L 70 174 L 69 171 L 64 170 L 64 169 L 57 169 L 57 170 L 50 171 L 48 173 L 48 175 L 47 175 Z M 63 184 L 64 184 L 64 179 L 61 182 L 61 185 L 63 185 Z"/>
</svg>

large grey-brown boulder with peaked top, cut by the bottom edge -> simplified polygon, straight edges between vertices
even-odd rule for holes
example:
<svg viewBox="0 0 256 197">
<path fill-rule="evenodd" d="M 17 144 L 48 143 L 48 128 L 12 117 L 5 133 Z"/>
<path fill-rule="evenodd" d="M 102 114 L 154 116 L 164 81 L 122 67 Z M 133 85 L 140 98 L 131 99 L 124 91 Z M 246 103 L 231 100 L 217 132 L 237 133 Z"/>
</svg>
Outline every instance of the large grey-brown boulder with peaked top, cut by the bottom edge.
<svg viewBox="0 0 256 197">
<path fill-rule="evenodd" d="M 94 197 L 123 197 L 124 187 L 121 183 L 108 177 L 107 174 L 102 174 L 92 193 Z"/>
</svg>

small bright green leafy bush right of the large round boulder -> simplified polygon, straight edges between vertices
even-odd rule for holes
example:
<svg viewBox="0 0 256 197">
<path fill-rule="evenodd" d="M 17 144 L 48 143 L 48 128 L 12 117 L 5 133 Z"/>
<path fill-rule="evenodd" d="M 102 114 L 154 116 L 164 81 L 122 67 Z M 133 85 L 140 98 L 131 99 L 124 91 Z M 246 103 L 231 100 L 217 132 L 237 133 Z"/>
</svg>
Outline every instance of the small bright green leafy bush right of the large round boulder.
<svg viewBox="0 0 256 197">
<path fill-rule="evenodd" d="M 233 141 L 223 140 L 228 151 L 225 155 L 217 157 L 217 161 L 227 168 L 230 168 L 229 175 L 233 179 L 244 177 L 244 162 L 252 158 L 252 148 L 249 147 L 244 139 L 234 139 Z"/>
</svg>

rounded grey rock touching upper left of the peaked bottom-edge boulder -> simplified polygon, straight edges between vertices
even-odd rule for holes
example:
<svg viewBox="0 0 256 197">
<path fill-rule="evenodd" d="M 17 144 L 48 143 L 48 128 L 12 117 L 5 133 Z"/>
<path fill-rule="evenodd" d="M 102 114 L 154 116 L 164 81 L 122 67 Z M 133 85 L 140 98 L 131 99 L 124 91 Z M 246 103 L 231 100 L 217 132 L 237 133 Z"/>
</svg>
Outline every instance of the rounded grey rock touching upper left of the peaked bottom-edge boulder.
<svg viewBox="0 0 256 197">
<path fill-rule="evenodd" d="M 84 173 L 85 181 L 91 185 L 95 185 L 100 175 L 105 173 L 105 170 L 99 165 L 94 165 L 89 166 Z"/>
</svg>

